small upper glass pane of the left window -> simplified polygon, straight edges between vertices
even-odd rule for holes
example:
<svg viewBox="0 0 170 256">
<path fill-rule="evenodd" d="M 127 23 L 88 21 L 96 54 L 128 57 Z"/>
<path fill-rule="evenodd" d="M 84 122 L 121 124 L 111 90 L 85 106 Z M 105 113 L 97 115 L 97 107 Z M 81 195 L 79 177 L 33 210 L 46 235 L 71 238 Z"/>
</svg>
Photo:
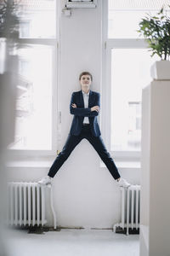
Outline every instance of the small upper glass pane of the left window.
<svg viewBox="0 0 170 256">
<path fill-rule="evenodd" d="M 55 0 L 20 0 L 20 38 L 55 38 Z"/>
</svg>

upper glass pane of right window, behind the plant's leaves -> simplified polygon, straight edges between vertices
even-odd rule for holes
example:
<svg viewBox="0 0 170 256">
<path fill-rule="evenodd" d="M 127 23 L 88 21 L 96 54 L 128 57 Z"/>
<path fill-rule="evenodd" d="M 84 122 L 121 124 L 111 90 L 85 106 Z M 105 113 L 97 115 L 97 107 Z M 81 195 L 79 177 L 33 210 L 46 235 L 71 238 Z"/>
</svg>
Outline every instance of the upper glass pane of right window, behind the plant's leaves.
<svg viewBox="0 0 170 256">
<path fill-rule="evenodd" d="M 139 22 L 146 13 L 156 15 L 163 4 L 167 7 L 169 0 L 109 0 L 108 38 L 142 38 L 136 32 L 139 30 Z M 169 14 L 168 8 L 167 13 Z"/>
</svg>

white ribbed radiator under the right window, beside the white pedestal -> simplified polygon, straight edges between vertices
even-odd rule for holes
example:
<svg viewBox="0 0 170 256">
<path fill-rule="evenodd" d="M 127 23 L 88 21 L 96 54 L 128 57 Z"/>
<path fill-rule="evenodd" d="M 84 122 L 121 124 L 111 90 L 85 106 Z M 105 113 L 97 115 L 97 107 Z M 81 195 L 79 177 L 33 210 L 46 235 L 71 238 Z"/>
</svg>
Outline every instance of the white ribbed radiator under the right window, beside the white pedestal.
<svg viewBox="0 0 170 256">
<path fill-rule="evenodd" d="M 140 212 L 140 185 L 131 185 L 127 189 L 121 188 L 122 192 L 122 215 L 121 223 L 113 225 L 113 231 L 116 232 L 116 227 L 121 227 L 123 230 L 127 228 L 139 229 L 139 212 Z"/>
</svg>

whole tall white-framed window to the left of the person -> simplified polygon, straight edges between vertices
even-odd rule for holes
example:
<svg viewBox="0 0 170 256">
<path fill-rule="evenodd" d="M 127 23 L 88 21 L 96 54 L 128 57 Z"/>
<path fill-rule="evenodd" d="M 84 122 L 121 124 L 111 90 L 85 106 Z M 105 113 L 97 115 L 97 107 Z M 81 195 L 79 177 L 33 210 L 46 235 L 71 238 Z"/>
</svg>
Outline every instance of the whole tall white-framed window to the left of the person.
<svg viewBox="0 0 170 256">
<path fill-rule="evenodd" d="M 58 72 L 58 2 L 20 0 L 19 79 L 14 143 L 20 154 L 54 154 Z M 59 3 L 58 3 L 59 4 Z"/>
</svg>

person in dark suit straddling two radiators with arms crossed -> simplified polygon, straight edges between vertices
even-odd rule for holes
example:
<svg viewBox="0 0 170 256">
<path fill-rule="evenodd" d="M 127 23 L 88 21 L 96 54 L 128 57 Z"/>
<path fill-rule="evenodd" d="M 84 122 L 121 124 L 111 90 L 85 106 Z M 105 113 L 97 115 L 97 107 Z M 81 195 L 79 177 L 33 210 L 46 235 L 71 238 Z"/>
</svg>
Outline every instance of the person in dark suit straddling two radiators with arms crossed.
<svg viewBox="0 0 170 256">
<path fill-rule="evenodd" d="M 107 166 L 108 170 L 111 172 L 112 177 L 116 179 L 117 184 L 120 187 L 127 188 L 130 186 L 130 183 L 127 183 L 127 181 L 120 176 L 101 137 L 97 120 L 100 107 L 100 95 L 99 92 L 90 90 L 90 85 L 93 81 L 92 74 L 82 72 L 79 76 L 79 81 L 82 90 L 75 91 L 71 95 L 70 113 L 73 114 L 74 117 L 65 145 L 50 167 L 48 176 L 42 177 L 38 183 L 43 185 L 52 183 L 54 175 L 59 171 L 60 166 L 64 164 L 72 150 L 83 138 L 86 138 L 97 151 L 101 160 L 104 161 L 105 166 Z"/>
</svg>

